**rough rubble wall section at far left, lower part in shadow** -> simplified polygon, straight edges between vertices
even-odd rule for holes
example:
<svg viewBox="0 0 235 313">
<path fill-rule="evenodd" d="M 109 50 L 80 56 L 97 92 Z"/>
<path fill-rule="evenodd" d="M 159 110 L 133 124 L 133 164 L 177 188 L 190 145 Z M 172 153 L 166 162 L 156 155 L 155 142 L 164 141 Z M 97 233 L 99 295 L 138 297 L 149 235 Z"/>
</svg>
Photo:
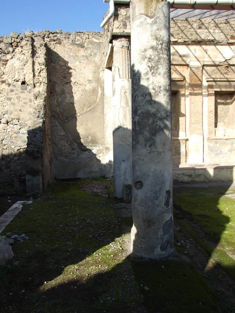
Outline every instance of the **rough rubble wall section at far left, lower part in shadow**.
<svg viewBox="0 0 235 313">
<path fill-rule="evenodd" d="M 41 192 L 51 180 L 44 44 L 36 43 L 31 32 L 0 38 L 0 180 L 26 176 L 29 193 Z"/>
</svg>

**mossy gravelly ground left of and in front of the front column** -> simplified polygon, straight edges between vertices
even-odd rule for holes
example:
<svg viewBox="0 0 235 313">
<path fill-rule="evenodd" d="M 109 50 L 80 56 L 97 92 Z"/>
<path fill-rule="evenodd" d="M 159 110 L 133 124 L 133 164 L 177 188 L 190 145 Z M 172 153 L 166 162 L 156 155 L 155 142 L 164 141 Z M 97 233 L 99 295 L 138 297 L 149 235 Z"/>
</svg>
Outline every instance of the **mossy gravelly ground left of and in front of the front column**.
<svg viewBox="0 0 235 313">
<path fill-rule="evenodd" d="M 110 184 L 111 195 L 112 182 L 96 180 Z M 150 312 L 219 312 L 193 267 L 126 257 L 122 228 L 131 219 L 116 215 L 111 196 L 79 189 L 89 181 L 52 184 L 1 233 L 29 239 L 0 267 L 0 312 L 147 312 L 143 303 Z"/>
</svg>

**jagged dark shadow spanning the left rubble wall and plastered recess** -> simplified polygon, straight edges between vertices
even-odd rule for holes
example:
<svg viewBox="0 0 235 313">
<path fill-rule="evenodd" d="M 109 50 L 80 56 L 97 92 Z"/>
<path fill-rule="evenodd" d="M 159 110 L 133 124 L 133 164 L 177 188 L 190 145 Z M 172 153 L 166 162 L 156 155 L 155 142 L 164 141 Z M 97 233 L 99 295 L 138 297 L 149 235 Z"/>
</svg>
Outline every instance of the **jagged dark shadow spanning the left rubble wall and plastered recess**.
<svg viewBox="0 0 235 313">
<path fill-rule="evenodd" d="M 49 107 L 46 123 L 28 130 L 27 148 L 1 156 L 0 174 L 3 181 L 15 181 L 18 192 L 41 193 L 56 178 L 104 176 L 111 173 L 112 161 L 104 164 L 104 147 L 92 151 L 81 141 L 71 81 L 71 67 L 54 50 L 47 47 L 49 59 Z M 86 103 L 84 103 L 84 107 Z M 99 121 L 95 121 L 98 123 Z M 90 121 L 94 123 L 94 121 Z M 48 142 L 52 141 L 52 142 Z M 50 146 L 53 151 L 49 151 Z M 9 179 L 9 177 L 11 177 Z M 25 185 L 26 179 L 26 185 Z"/>
</svg>

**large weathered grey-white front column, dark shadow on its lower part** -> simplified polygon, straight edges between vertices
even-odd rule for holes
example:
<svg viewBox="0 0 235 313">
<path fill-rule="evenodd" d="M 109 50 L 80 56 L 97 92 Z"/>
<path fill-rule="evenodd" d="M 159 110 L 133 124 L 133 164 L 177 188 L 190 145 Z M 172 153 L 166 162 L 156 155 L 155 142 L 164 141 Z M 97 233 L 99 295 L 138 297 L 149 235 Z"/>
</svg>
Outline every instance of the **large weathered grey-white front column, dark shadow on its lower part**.
<svg viewBox="0 0 235 313">
<path fill-rule="evenodd" d="M 131 1 L 133 254 L 172 253 L 170 8 Z"/>
</svg>

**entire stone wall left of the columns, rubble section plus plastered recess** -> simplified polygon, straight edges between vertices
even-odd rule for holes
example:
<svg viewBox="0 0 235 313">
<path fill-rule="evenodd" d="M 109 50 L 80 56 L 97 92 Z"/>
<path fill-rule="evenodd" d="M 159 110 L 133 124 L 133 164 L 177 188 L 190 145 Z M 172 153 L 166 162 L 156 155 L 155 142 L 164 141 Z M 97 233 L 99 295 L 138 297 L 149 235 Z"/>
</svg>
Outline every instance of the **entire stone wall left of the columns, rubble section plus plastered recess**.
<svg viewBox="0 0 235 313">
<path fill-rule="evenodd" d="M 102 33 L 0 38 L 0 179 L 104 175 Z"/>
</svg>

